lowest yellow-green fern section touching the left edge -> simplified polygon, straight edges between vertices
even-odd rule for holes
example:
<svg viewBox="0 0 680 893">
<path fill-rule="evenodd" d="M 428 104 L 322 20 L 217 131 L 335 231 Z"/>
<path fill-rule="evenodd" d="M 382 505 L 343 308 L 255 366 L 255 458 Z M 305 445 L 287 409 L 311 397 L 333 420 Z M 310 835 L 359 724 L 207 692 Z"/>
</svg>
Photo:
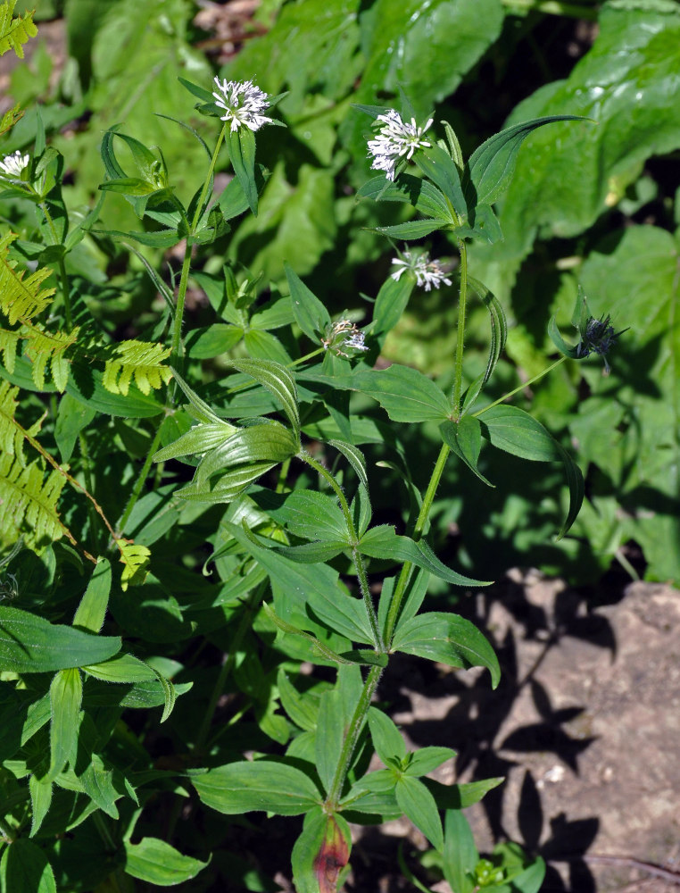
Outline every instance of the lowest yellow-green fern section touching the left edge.
<svg viewBox="0 0 680 893">
<path fill-rule="evenodd" d="M 64 535 L 76 545 L 56 507 L 65 483 L 56 470 L 45 477 L 39 460 L 22 465 L 10 453 L 0 455 L 0 536 L 13 542 L 23 534 L 37 550 Z"/>
</svg>

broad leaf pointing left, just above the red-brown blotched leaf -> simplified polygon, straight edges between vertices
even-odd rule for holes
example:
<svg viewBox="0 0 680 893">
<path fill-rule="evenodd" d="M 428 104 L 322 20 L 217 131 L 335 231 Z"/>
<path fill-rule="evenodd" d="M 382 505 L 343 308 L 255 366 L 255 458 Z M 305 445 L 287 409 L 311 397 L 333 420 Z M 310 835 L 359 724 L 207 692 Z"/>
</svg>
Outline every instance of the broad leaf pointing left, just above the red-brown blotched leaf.
<svg viewBox="0 0 680 893">
<path fill-rule="evenodd" d="M 321 795 L 308 775 L 271 760 L 230 763 L 192 779 L 198 796 L 219 813 L 239 815 L 264 811 L 300 815 L 320 803 Z"/>
</svg>

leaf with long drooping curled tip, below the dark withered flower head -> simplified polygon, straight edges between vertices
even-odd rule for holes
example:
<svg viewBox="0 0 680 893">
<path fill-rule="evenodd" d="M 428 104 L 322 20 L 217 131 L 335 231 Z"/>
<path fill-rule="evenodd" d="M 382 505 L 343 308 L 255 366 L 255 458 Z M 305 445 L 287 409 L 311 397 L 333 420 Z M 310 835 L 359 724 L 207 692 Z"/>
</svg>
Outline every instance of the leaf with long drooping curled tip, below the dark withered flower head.
<svg viewBox="0 0 680 893">
<path fill-rule="evenodd" d="M 560 537 L 576 521 L 584 500 L 584 480 L 580 468 L 567 450 L 552 438 L 540 421 L 518 406 L 493 406 L 482 416 L 482 431 L 494 447 L 533 462 L 559 460 L 567 477 L 569 510 Z"/>
</svg>

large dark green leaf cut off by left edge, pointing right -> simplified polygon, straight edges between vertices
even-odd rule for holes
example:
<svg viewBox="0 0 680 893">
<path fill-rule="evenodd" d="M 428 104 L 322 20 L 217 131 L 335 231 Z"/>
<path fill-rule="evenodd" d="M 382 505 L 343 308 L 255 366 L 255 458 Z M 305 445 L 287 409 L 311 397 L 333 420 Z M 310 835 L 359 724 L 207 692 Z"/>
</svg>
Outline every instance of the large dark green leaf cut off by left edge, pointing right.
<svg viewBox="0 0 680 893">
<path fill-rule="evenodd" d="M 117 636 L 94 636 L 0 605 L 0 669 L 51 672 L 99 663 L 120 651 Z"/>
</svg>

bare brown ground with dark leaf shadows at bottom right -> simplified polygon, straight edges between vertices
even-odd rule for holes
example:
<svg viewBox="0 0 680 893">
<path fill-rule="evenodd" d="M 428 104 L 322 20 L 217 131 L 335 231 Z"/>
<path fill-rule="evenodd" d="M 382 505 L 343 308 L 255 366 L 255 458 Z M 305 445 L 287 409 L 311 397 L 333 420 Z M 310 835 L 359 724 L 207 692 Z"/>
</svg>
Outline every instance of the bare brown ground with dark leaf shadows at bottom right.
<svg viewBox="0 0 680 893">
<path fill-rule="evenodd" d="M 505 776 L 467 811 L 480 850 L 513 839 L 540 852 L 546 893 L 675 893 L 680 592 L 635 582 L 586 597 L 535 572 L 510 577 L 468 612 L 497 647 L 495 692 L 487 673 L 440 665 L 427 676 L 426 662 L 405 659 L 380 697 L 412 747 L 458 751 L 439 780 Z M 361 876 L 377 852 L 383 871 L 372 866 L 382 877 L 371 889 L 412 890 L 396 878 L 394 838 L 407 837 L 415 855 L 426 847 L 419 831 L 405 821 L 357 831 L 347 888 L 369 889 Z"/>
</svg>

